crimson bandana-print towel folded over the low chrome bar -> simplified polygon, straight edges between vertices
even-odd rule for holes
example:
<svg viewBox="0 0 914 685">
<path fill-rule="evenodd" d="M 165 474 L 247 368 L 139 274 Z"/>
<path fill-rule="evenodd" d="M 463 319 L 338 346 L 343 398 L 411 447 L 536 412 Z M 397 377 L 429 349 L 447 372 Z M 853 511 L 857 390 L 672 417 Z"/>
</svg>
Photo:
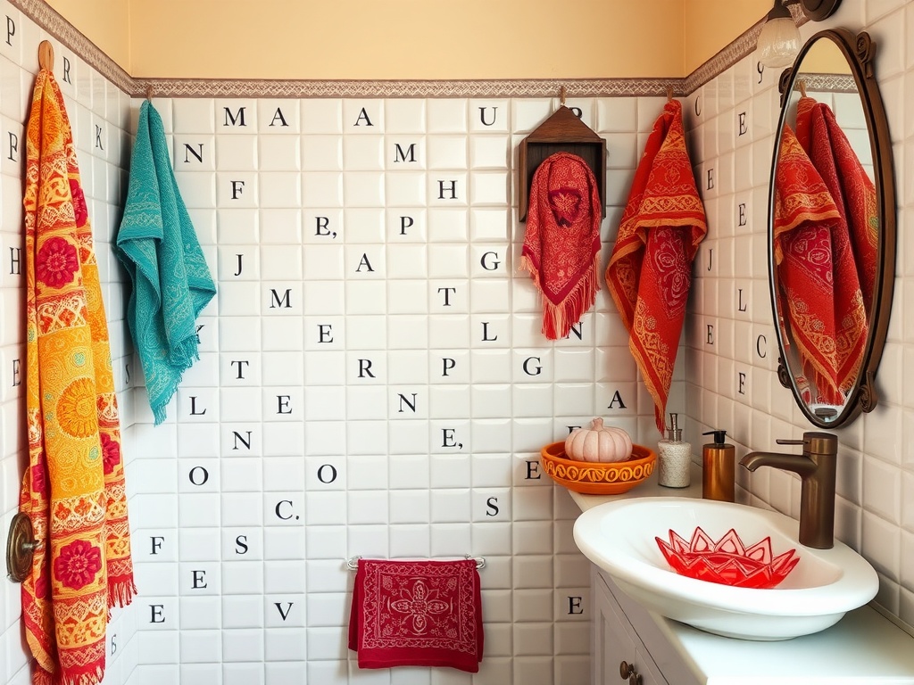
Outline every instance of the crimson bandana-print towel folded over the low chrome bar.
<svg viewBox="0 0 914 685">
<path fill-rule="evenodd" d="M 359 559 L 349 616 L 358 668 L 448 666 L 476 673 L 483 607 L 473 559 Z"/>
</svg>

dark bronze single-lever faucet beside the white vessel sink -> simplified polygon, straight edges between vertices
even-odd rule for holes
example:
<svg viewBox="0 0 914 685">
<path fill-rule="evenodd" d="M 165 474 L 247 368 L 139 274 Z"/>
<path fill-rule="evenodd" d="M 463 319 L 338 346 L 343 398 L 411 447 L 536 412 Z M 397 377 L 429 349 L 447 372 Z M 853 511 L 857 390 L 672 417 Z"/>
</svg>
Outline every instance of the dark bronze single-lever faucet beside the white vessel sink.
<svg viewBox="0 0 914 685">
<path fill-rule="evenodd" d="M 802 440 L 777 440 L 779 445 L 802 445 L 802 455 L 749 452 L 739 460 L 750 471 L 772 466 L 800 474 L 800 543 L 820 550 L 834 546 L 834 475 L 838 438 L 809 431 Z"/>
</svg>

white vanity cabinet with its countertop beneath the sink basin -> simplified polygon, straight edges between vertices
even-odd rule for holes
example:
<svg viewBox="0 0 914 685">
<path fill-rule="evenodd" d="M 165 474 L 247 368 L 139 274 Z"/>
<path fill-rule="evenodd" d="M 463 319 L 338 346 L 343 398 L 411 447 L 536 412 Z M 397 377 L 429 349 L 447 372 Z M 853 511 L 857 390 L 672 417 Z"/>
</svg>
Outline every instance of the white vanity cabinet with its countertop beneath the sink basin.
<svg viewBox="0 0 914 685">
<path fill-rule="evenodd" d="M 591 685 L 914 685 L 914 638 L 870 606 L 820 633 L 760 642 L 656 616 L 595 565 L 590 580 Z"/>
</svg>

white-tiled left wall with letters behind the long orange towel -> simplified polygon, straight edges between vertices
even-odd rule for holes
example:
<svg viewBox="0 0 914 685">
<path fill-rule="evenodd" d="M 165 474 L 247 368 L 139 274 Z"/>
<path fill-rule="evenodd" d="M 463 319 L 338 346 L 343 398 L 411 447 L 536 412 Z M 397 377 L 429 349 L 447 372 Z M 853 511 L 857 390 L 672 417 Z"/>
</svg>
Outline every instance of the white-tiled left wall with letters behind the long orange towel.
<svg viewBox="0 0 914 685">
<path fill-rule="evenodd" d="M 3 188 L 0 223 L 0 525 L 3 547 L 10 522 L 19 506 L 19 488 L 27 459 L 25 441 L 25 227 L 22 187 L 26 165 L 26 122 L 31 109 L 37 72 L 37 46 L 45 37 L 38 27 L 7 2 L 0 4 L 0 21 L 7 26 L 8 39 L 0 41 L 0 140 Z M 112 364 L 123 431 L 123 454 L 128 473 L 129 506 L 139 508 L 139 491 L 173 492 L 174 466 L 164 471 L 133 474 L 140 450 L 133 440 L 133 384 L 141 370 L 133 361 L 130 333 L 123 321 L 126 304 L 126 273 L 112 252 L 112 239 L 121 216 L 119 204 L 126 194 L 130 149 L 131 101 L 121 90 L 52 40 L 55 50 L 54 74 L 64 95 L 73 128 L 83 190 L 95 237 L 102 295 L 108 316 Z M 173 478 L 168 478 L 168 475 Z M 142 485 L 144 475 L 149 476 Z M 145 488 L 146 490 L 143 490 Z M 156 585 L 167 583 L 154 577 Z M 22 638 L 20 585 L 3 574 L 0 579 L 0 682 L 31 682 L 28 656 Z M 121 685 L 133 672 L 138 659 L 139 639 L 134 639 L 136 620 L 133 607 L 115 609 L 108 627 L 108 668 L 105 683 Z"/>
</svg>

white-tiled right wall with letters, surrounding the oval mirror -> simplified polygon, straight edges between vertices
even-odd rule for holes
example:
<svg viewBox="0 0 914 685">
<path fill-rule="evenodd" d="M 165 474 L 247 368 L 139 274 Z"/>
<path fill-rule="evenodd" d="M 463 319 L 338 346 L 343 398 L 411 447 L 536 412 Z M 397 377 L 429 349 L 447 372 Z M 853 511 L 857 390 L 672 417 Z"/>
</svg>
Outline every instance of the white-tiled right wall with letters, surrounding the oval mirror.
<svg viewBox="0 0 914 685">
<path fill-rule="evenodd" d="M 901 0 L 845 0 L 824 25 L 802 27 L 802 36 L 831 26 L 866 30 L 877 43 L 876 74 L 884 100 L 898 205 L 895 293 L 885 352 L 877 378 L 879 405 L 834 432 L 839 437 L 835 501 L 836 535 L 862 553 L 879 574 L 877 604 L 914 631 L 914 383 L 910 352 L 910 287 L 914 242 L 905 235 L 914 202 L 906 177 L 914 162 L 909 124 L 914 53 L 914 9 Z M 726 428 L 738 448 L 780 449 L 779 437 L 810 430 L 790 391 L 777 379 L 777 340 L 771 324 L 767 267 L 768 183 L 780 113 L 777 79 L 760 70 L 754 55 L 739 61 L 687 98 L 686 128 L 696 151 L 713 228 L 696 264 L 691 320 L 686 332 L 686 385 L 699 398 L 689 416 L 699 432 Z M 829 96 L 831 97 L 831 96 Z M 835 111 L 845 104 L 834 95 Z M 906 100 L 907 98 L 907 100 Z M 845 126 L 845 128 L 852 128 Z M 736 163 L 734 163 L 736 162 Z M 712 187 L 713 184 L 713 187 Z M 745 222 L 744 222 L 745 218 Z M 799 517 L 800 482 L 777 469 L 749 475 L 738 469 L 740 495 L 752 504 Z"/>
</svg>

